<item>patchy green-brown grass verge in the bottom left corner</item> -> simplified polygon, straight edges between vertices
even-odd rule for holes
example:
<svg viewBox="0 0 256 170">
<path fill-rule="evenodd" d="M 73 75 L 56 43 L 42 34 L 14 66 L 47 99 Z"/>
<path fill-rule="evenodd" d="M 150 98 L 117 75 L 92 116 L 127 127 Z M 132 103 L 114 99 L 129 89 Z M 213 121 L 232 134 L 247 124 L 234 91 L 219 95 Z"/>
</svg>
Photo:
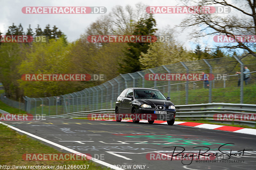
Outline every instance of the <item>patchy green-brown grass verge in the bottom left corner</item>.
<svg viewBox="0 0 256 170">
<path fill-rule="evenodd" d="M 30 160 L 25 161 L 22 159 L 22 155 L 26 153 L 62 153 L 50 146 L 44 145 L 39 141 L 31 139 L 26 135 L 20 135 L 19 132 L 8 128 L 5 125 L 0 124 L 0 165 L 11 166 L 58 166 L 58 165 L 89 165 L 88 169 L 102 170 L 108 169 L 97 165 L 96 163 L 88 160 L 58 160 L 58 161 L 46 161 L 46 160 Z M 88 166 L 86 166 L 88 167 Z M 15 168 L 16 169 L 16 168 Z M 17 168 L 28 169 L 28 168 Z M 38 168 L 40 169 L 40 168 Z M 45 168 L 47 169 L 47 168 Z M 54 168 L 56 169 L 56 168 Z M 71 169 L 71 168 L 70 168 Z M 73 168 L 77 169 L 77 168 Z M 82 168 L 81 168 L 82 169 Z"/>
</svg>

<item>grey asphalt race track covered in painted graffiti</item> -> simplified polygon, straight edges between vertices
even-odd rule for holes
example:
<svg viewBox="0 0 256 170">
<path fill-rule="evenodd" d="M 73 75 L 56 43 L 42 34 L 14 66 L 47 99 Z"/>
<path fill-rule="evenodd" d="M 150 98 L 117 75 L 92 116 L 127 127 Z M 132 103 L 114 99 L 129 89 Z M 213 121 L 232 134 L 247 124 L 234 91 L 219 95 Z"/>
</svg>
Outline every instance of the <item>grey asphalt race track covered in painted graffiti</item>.
<svg viewBox="0 0 256 170">
<path fill-rule="evenodd" d="M 180 125 L 49 117 L 3 122 L 122 169 L 256 169 L 255 135 Z M 208 155 L 198 159 L 199 151 Z"/>
</svg>

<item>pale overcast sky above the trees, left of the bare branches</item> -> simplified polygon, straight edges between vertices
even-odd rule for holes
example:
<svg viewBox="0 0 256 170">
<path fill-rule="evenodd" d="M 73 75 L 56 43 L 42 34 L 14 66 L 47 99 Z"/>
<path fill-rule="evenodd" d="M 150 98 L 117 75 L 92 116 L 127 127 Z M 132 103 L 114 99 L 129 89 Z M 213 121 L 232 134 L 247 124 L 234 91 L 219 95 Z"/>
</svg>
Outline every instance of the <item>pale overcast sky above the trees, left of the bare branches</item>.
<svg viewBox="0 0 256 170">
<path fill-rule="evenodd" d="M 80 37 L 81 34 L 85 32 L 88 26 L 100 18 L 104 14 L 24 14 L 21 9 L 26 6 L 104 6 L 107 8 L 107 13 L 116 5 L 130 4 L 135 7 L 135 4 L 141 2 L 148 6 L 180 6 L 180 1 L 175 0 L 0 0 L 0 10 L 1 10 L 1 20 L 0 20 L 0 31 L 4 35 L 8 27 L 14 23 L 14 25 L 23 26 L 24 32 L 27 31 L 28 25 L 31 24 L 31 28 L 35 31 L 37 24 L 39 24 L 44 29 L 45 25 L 50 24 L 51 27 L 56 25 L 62 32 L 64 32 L 68 41 L 74 41 Z M 163 29 L 165 26 L 170 25 L 174 27 L 180 24 L 181 20 L 185 18 L 187 14 L 154 14 L 154 18 L 157 22 L 157 28 Z M 189 14 L 188 14 L 189 15 Z M 211 47 L 214 44 L 212 37 L 204 37 L 199 41 L 193 40 L 189 42 L 187 39 L 188 31 L 182 32 L 179 28 L 176 28 L 179 32 L 177 39 L 184 44 L 187 49 L 194 49 L 196 43 L 207 42 L 208 46 Z M 202 44 L 203 45 L 203 44 Z"/>
</svg>

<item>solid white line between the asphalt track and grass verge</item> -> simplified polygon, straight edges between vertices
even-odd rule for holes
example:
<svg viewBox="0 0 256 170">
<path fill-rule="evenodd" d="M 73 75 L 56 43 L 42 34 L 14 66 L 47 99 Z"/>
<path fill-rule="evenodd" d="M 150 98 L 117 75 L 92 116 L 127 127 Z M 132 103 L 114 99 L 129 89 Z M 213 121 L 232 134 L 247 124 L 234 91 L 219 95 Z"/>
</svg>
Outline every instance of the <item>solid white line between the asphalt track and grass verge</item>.
<svg viewBox="0 0 256 170">
<path fill-rule="evenodd" d="M 41 138 L 41 137 L 39 137 L 39 136 L 33 135 L 33 134 L 31 134 L 31 133 L 28 133 L 28 132 L 26 132 L 26 131 L 22 131 L 22 130 L 20 130 L 20 129 L 16 128 L 16 127 L 13 127 L 13 126 L 11 126 L 11 125 L 9 125 L 9 124 L 5 124 L 5 123 L 3 123 L 3 122 L 0 122 L 0 124 L 3 124 L 3 125 L 5 125 L 5 126 L 11 128 L 11 129 L 13 129 L 13 130 L 15 130 L 15 131 L 19 131 L 19 132 L 21 132 L 21 133 L 24 133 L 24 134 L 26 134 L 26 135 L 29 135 L 29 136 L 31 136 L 31 137 L 33 137 L 33 138 L 42 140 L 42 141 L 44 141 L 44 142 L 46 142 L 46 143 L 49 143 L 49 144 L 54 145 L 54 146 L 56 146 L 56 147 L 59 147 L 60 149 L 66 150 L 66 151 L 68 151 L 68 152 L 75 153 L 75 154 L 79 154 L 79 155 L 83 154 L 83 153 L 77 152 L 77 151 L 75 151 L 75 150 L 73 150 L 73 149 L 69 149 L 69 148 L 67 148 L 67 147 L 65 147 L 65 146 L 56 144 L 56 143 L 54 143 L 54 142 L 52 142 L 52 141 L 50 141 L 50 140 Z M 92 158 L 92 157 L 90 157 L 90 156 L 88 156 L 88 155 L 86 156 L 86 158 L 90 158 L 92 161 L 94 161 L 94 162 L 96 162 L 96 163 L 98 163 L 98 164 L 101 164 L 101 165 L 104 165 L 104 166 L 107 166 L 107 167 L 111 167 L 112 169 L 115 169 L 115 170 L 124 170 L 124 169 L 122 169 L 122 168 L 116 167 L 116 166 L 114 166 L 114 165 L 112 165 L 112 164 L 109 164 L 109 163 L 107 163 L 107 162 L 104 162 L 104 161 L 102 161 L 102 160 Z"/>
</svg>

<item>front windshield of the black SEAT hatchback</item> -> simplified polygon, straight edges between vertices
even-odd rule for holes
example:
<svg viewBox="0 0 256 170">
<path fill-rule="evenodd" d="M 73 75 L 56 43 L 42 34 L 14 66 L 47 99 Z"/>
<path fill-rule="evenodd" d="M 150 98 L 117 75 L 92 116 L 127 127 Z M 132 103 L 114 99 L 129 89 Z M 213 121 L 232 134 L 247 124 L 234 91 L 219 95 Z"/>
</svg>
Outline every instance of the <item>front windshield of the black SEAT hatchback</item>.
<svg viewBox="0 0 256 170">
<path fill-rule="evenodd" d="M 137 99 L 161 99 L 166 100 L 165 96 L 156 90 L 135 90 L 135 97 Z"/>
</svg>

